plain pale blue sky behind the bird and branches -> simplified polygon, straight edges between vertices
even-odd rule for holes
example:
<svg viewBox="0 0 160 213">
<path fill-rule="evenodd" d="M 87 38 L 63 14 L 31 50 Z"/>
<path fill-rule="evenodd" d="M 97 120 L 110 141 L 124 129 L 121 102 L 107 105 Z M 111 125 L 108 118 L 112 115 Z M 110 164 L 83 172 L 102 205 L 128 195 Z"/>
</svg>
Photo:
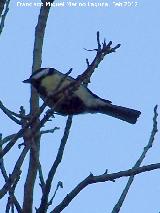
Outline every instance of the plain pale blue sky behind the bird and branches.
<svg viewBox="0 0 160 213">
<path fill-rule="evenodd" d="M 90 172 L 100 175 L 106 169 L 117 172 L 131 168 L 149 140 L 153 108 L 160 102 L 160 1 L 139 0 L 138 5 L 136 3 L 137 6 L 132 7 L 115 7 L 112 1 L 107 2 L 109 7 L 102 8 L 52 7 L 46 28 L 42 67 L 54 67 L 64 73 L 72 67 L 73 77 L 81 74 L 86 68 L 86 58 L 91 61 L 95 55 L 83 48 L 97 47 L 96 32 L 99 30 L 102 41 L 105 37 L 107 42 L 113 41 L 113 46 L 120 43 L 121 47 L 116 53 L 105 57 L 93 74 L 89 88 L 114 104 L 140 110 L 142 115 L 136 125 L 100 114 L 74 117 L 63 161 L 53 182 L 52 195 L 59 180 L 64 185 L 58 191 L 54 205 Z M 16 0 L 10 3 L 5 28 L 0 37 L 0 100 L 13 111 L 18 111 L 23 105 L 29 112 L 30 88 L 22 81 L 31 73 L 34 30 L 40 7 L 18 7 L 16 4 Z M 65 121 L 66 117 L 56 116 L 45 127 L 61 128 L 53 135 L 43 136 L 41 142 L 41 163 L 45 178 L 55 159 Z M 0 132 L 4 137 L 19 128 L 0 111 Z M 143 165 L 160 162 L 159 142 L 158 133 Z M 10 173 L 20 152 L 15 146 L 5 157 L 5 165 Z M 27 166 L 26 159 L 23 177 Z M 1 187 L 2 180 L 0 177 Z M 121 212 L 158 213 L 159 180 L 158 170 L 138 175 Z M 16 191 L 20 201 L 23 181 Z M 115 183 L 88 186 L 63 212 L 110 213 L 126 182 L 127 178 L 121 178 Z M 38 182 L 35 190 L 34 206 L 38 207 L 41 194 Z M 4 212 L 4 200 L 0 201 L 0 206 Z"/>
</svg>

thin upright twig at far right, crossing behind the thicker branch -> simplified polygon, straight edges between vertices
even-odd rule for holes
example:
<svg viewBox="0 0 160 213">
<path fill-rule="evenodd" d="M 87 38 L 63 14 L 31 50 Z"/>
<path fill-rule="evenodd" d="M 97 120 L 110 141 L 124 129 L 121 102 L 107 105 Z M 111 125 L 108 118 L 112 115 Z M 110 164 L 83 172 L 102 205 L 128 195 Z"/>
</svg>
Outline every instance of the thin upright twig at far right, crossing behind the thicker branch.
<svg viewBox="0 0 160 213">
<path fill-rule="evenodd" d="M 158 113 L 157 113 L 157 105 L 154 107 L 154 116 L 153 116 L 153 128 L 152 128 L 152 131 L 151 131 L 151 136 L 149 138 L 149 141 L 148 141 L 148 144 L 146 145 L 146 147 L 144 147 L 144 150 L 140 156 L 140 158 L 137 160 L 137 162 L 135 163 L 135 165 L 133 166 L 133 168 L 138 168 L 141 163 L 143 162 L 147 152 L 149 151 L 149 149 L 153 146 L 153 142 L 154 142 L 154 138 L 155 138 L 155 135 L 156 133 L 158 132 L 158 129 L 157 129 L 157 117 L 158 117 Z M 128 194 L 128 191 L 131 187 L 131 184 L 134 180 L 134 176 L 130 176 L 129 179 L 128 179 L 128 182 L 118 200 L 118 202 L 116 203 L 116 205 L 114 206 L 113 210 L 112 210 L 112 213 L 118 213 L 123 205 L 123 202 Z"/>
</svg>

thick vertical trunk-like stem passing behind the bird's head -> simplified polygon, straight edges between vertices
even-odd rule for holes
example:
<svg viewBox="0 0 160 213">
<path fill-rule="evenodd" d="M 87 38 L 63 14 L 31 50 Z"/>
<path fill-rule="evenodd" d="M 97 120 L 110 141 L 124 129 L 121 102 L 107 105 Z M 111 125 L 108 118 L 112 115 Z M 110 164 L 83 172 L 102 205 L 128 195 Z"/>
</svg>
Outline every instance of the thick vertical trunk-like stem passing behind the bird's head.
<svg viewBox="0 0 160 213">
<path fill-rule="evenodd" d="M 47 0 L 46 0 L 47 1 Z M 43 1 L 44 3 L 46 1 Z M 53 2 L 53 0 L 50 0 Z M 35 28 L 35 41 L 33 49 L 33 65 L 32 73 L 41 67 L 42 63 L 42 47 L 44 41 L 45 28 L 47 24 L 48 14 L 50 11 L 50 6 L 41 6 L 40 13 L 38 17 L 38 23 Z M 45 107 L 44 107 L 45 108 Z M 30 114 L 35 115 L 39 112 L 39 96 L 36 90 L 31 87 L 31 98 L 30 98 Z M 30 149 L 30 161 L 28 174 L 24 186 L 24 200 L 23 200 L 23 212 L 29 213 L 32 212 L 33 205 L 33 190 L 35 185 L 35 180 L 37 176 L 37 171 L 39 167 L 39 150 L 40 150 L 40 121 L 39 118 L 35 119 L 31 126 L 31 132 L 33 136 L 33 143 Z"/>
</svg>

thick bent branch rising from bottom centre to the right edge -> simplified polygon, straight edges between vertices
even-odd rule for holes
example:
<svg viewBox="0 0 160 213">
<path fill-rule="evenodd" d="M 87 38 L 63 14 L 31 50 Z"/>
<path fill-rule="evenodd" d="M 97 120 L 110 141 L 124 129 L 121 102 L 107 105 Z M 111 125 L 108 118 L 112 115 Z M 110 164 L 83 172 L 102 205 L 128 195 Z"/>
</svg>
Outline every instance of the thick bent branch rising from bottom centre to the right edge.
<svg viewBox="0 0 160 213">
<path fill-rule="evenodd" d="M 152 171 L 155 169 L 160 169 L 160 163 L 156 164 L 150 164 L 147 166 L 142 166 L 138 168 L 133 168 L 125 171 L 120 171 L 117 173 L 112 174 L 102 174 L 99 176 L 94 176 L 93 174 L 90 174 L 88 177 L 86 177 L 82 182 L 80 182 L 67 196 L 63 199 L 63 201 L 56 206 L 50 213 L 60 213 L 64 208 L 66 208 L 70 202 L 88 185 L 94 184 L 94 183 L 100 183 L 100 182 L 106 182 L 106 181 L 114 181 L 116 179 L 119 179 L 121 177 L 129 177 L 132 175 L 137 175 L 140 173 L 144 173 L 147 171 Z"/>
</svg>

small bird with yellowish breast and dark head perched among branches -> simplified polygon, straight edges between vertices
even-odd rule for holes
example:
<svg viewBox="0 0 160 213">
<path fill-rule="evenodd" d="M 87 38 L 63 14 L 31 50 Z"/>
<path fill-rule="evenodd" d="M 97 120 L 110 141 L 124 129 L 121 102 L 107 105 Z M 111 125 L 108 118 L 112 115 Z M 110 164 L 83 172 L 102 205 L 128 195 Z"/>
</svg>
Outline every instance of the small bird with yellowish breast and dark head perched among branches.
<svg viewBox="0 0 160 213">
<path fill-rule="evenodd" d="M 84 113 L 102 113 L 130 124 L 135 124 L 141 112 L 135 109 L 112 104 L 94 94 L 83 83 L 72 91 L 66 93 L 65 89 L 76 79 L 65 75 L 55 68 L 39 68 L 23 83 L 31 84 L 50 108 L 62 116 L 78 115 Z M 56 95 L 56 91 L 62 91 Z"/>
</svg>

